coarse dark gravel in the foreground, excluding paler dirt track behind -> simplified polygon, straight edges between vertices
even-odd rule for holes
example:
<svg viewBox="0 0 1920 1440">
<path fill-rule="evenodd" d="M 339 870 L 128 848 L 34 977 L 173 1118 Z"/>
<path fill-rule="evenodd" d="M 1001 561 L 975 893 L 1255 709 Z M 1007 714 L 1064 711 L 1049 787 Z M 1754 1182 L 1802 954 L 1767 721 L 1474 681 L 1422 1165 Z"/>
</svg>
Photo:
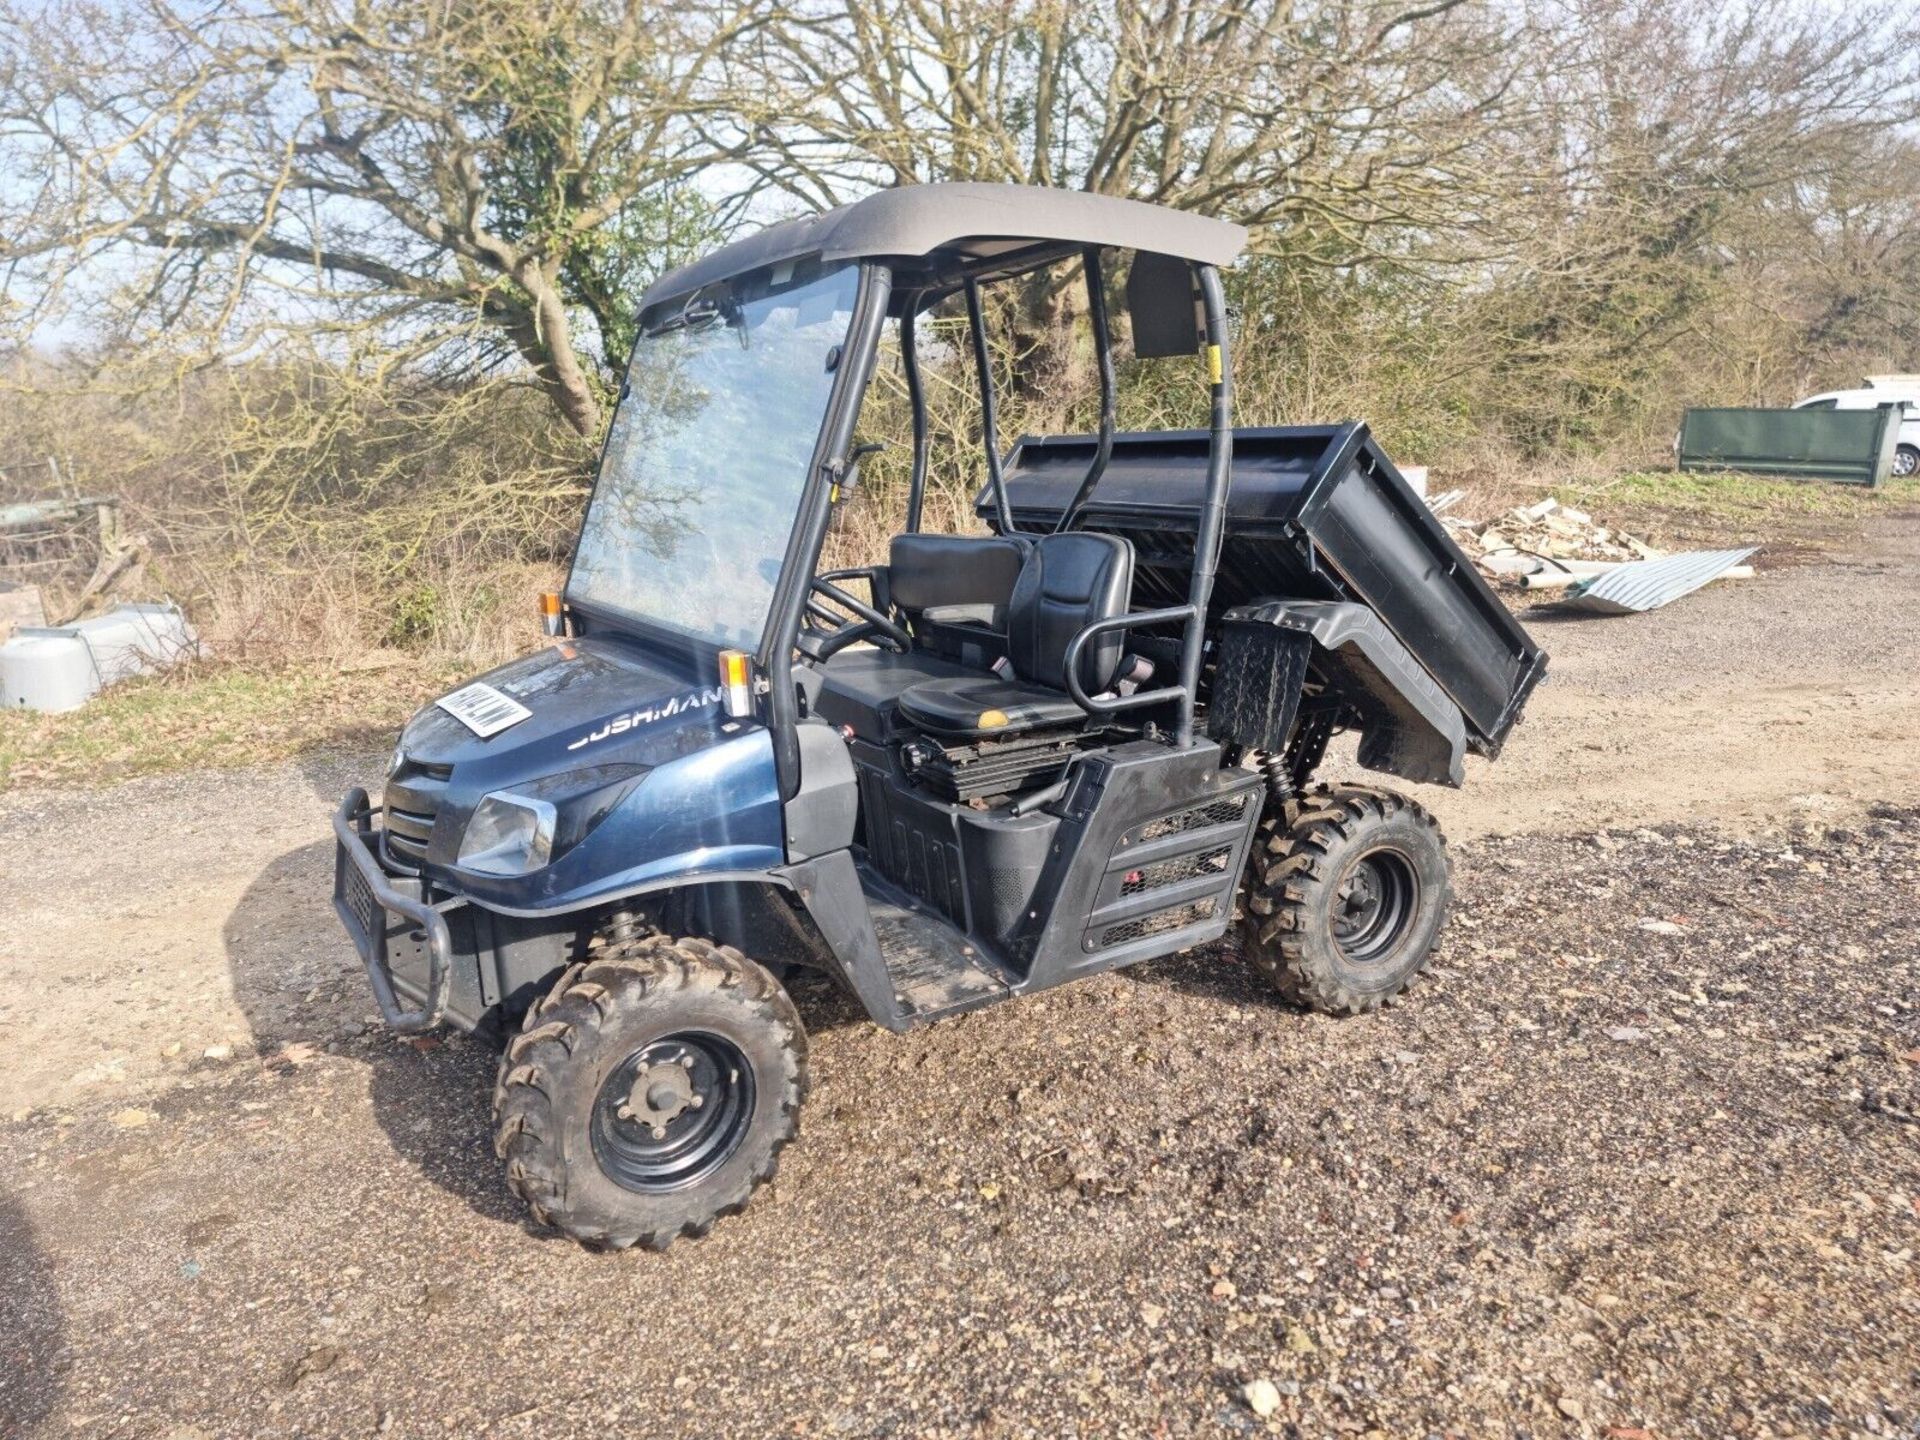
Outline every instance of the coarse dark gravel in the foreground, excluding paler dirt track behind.
<svg viewBox="0 0 1920 1440">
<path fill-rule="evenodd" d="M 13 1123 L 0 1413 L 129 1436 L 1920 1428 L 1920 812 L 1488 839 L 1459 881 L 1440 968 L 1359 1021 L 1279 1006 L 1225 948 L 904 1039 L 806 991 L 803 1142 L 666 1256 L 522 1225 L 465 1041 L 334 1035 Z M 1240 1398 L 1261 1379 L 1269 1419 Z"/>
</svg>

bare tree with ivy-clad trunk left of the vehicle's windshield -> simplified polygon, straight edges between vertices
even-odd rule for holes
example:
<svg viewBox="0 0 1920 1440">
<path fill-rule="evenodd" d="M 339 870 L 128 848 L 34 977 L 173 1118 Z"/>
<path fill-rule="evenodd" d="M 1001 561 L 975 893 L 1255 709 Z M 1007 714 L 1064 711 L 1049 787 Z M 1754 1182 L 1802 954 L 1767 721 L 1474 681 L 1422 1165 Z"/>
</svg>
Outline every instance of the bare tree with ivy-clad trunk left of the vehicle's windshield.
<svg viewBox="0 0 1920 1440">
<path fill-rule="evenodd" d="M 714 221 L 751 0 L 0 0 L 13 324 L 257 353 L 301 328 L 532 367 L 584 436 L 647 273 Z M 580 336 L 580 324 L 589 326 Z"/>
</svg>

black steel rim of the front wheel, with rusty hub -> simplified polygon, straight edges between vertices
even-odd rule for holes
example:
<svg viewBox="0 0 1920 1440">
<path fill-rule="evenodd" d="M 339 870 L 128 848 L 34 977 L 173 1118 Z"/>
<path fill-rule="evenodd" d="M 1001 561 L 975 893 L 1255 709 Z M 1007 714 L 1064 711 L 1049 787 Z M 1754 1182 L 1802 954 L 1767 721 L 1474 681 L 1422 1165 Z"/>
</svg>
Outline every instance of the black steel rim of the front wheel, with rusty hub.
<svg viewBox="0 0 1920 1440">
<path fill-rule="evenodd" d="M 739 1150 L 753 1096 L 753 1066 L 730 1039 L 662 1035 L 614 1066 L 593 1096 L 593 1160 L 628 1190 L 699 1185 Z"/>
</svg>

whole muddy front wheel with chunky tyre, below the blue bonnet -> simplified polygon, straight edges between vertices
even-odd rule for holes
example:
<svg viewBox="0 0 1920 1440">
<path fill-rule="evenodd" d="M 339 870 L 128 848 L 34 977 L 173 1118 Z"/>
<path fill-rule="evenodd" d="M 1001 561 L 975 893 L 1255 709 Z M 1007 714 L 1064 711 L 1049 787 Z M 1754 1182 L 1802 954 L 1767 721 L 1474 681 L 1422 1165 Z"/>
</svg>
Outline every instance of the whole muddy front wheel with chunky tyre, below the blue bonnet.
<svg viewBox="0 0 1920 1440">
<path fill-rule="evenodd" d="M 507 1044 L 493 1148 L 534 1219 L 664 1250 L 774 1175 L 799 1129 L 806 1031 L 739 950 L 639 935 L 566 970 Z"/>
</svg>

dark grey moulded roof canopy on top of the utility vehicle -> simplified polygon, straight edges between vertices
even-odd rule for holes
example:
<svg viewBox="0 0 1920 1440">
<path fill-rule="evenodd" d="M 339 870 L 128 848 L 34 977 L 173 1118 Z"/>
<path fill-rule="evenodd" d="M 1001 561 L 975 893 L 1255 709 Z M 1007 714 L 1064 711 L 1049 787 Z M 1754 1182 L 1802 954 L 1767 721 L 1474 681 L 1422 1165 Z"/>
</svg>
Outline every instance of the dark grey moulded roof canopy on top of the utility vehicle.
<svg viewBox="0 0 1920 1440">
<path fill-rule="evenodd" d="M 818 255 L 906 261 L 895 294 L 937 300 L 972 275 L 1018 275 L 1085 246 L 1140 250 L 1200 265 L 1227 265 L 1246 248 L 1246 228 L 1139 200 L 1031 184 L 908 184 L 851 205 L 770 225 L 691 265 L 662 275 L 641 296 L 641 313 L 685 300 L 716 280 L 764 265 Z M 918 261 L 918 263 L 916 263 Z M 899 307 L 899 301 L 897 301 Z"/>
</svg>

